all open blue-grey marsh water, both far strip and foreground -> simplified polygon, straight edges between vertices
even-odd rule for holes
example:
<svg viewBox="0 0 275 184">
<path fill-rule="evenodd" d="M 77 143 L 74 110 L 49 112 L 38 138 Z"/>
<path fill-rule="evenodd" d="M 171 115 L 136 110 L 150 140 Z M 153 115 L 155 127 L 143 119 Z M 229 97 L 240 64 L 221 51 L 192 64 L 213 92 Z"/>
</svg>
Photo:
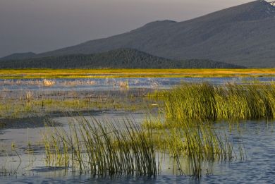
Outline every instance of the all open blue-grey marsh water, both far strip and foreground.
<svg viewBox="0 0 275 184">
<path fill-rule="evenodd" d="M 83 80 L 83 79 L 79 79 Z M 169 89 L 183 81 L 201 82 L 209 81 L 217 85 L 225 82 L 244 82 L 254 78 L 121 78 L 116 80 L 94 80 L 94 85 L 64 85 L 64 79 L 56 80 L 56 85 L 44 87 L 33 85 L 25 80 L 18 85 L 11 82 L 1 85 L 1 90 L 78 90 L 78 91 L 109 91 L 123 90 L 119 82 L 128 82 L 129 88 Z M 259 81 L 270 82 L 273 78 L 259 78 Z M 30 80 L 29 80 L 30 81 Z M 83 80 L 85 81 L 85 80 Z M 111 82 L 110 82 L 111 81 Z M 0 81 L 0 82 L 4 82 Z M 78 81 L 79 83 L 79 81 Z M 12 85 L 11 85 L 12 84 Z M 23 84 L 23 85 L 22 85 Z M 84 84 L 84 85 L 83 85 Z M 109 119 L 120 122 L 124 118 L 133 119 L 137 124 L 142 123 L 147 117 L 145 111 L 90 111 L 84 118 L 99 121 Z M 68 130 L 68 123 L 83 116 L 56 116 L 50 121 L 56 127 Z M 70 168 L 53 168 L 45 166 L 44 147 L 42 145 L 43 133 L 46 131 L 44 122 L 39 118 L 25 118 L 11 122 L 6 128 L 0 129 L 0 170 L 2 176 L 0 183 L 274 183 L 275 176 L 275 127 L 274 121 L 243 121 L 228 126 L 226 122 L 215 123 L 217 130 L 229 135 L 231 141 L 238 147 L 244 145 L 245 157 L 233 158 L 232 161 L 214 161 L 205 164 L 202 178 L 180 176 L 173 168 L 169 159 L 161 166 L 161 171 L 156 177 L 137 176 L 91 176 L 80 174 Z M 12 125 L 14 124 L 14 125 Z M 23 124 L 23 125 L 22 125 Z M 16 151 L 11 149 L 15 145 Z M 19 157 L 18 157 L 19 155 Z M 20 161 L 21 160 L 21 161 Z M 6 172 L 3 176 L 3 172 Z M 16 171 L 16 173 L 14 173 Z"/>
</svg>

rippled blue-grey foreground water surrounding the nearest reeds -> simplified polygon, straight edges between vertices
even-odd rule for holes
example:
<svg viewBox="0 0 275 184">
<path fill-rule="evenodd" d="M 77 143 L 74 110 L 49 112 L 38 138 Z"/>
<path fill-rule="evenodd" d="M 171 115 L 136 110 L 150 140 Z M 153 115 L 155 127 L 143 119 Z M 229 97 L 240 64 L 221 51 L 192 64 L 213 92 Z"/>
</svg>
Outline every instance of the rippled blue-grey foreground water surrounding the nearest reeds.
<svg viewBox="0 0 275 184">
<path fill-rule="evenodd" d="M 114 118 L 121 114 L 95 115 L 96 118 Z M 136 120 L 142 120 L 140 114 L 133 114 Z M 56 118 L 66 126 L 66 118 Z M 70 121 L 68 119 L 68 121 Z M 221 126 L 221 124 L 219 124 Z M 227 127 L 225 125 L 225 127 Z M 238 124 L 238 128 L 230 131 L 231 137 L 238 144 L 242 141 L 245 145 L 246 156 L 244 160 L 233 159 L 231 162 L 214 162 L 204 169 L 207 173 L 200 180 L 190 178 L 190 176 L 176 176 L 173 174 L 172 166 L 164 165 L 161 173 L 156 178 L 137 177 L 92 177 L 90 174 L 80 175 L 67 168 L 48 168 L 44 164 L 43 151 L 39 147 L 35 152 L 27 154 L 23 148 L 27 142 L 37 142 L 41 140 L 43 128 L 8 129 L 3 130 L 0 139 L 2 144 L 10 145 L 17 142 L 21 151 L 23 162 L 18 169 L 16 176 L 3 176 L 1 183 L 273 183 L 275 174 L 275 127 L 274 122 L 248 121 Z M 229 133 L 229 130 L 226 130 Z M 15 154 L 10 157 L 1 155 L 1 163 L 6 164 L 6 168 L 11 170 L 19 164 L 19 159 Z"/>
</svg>

